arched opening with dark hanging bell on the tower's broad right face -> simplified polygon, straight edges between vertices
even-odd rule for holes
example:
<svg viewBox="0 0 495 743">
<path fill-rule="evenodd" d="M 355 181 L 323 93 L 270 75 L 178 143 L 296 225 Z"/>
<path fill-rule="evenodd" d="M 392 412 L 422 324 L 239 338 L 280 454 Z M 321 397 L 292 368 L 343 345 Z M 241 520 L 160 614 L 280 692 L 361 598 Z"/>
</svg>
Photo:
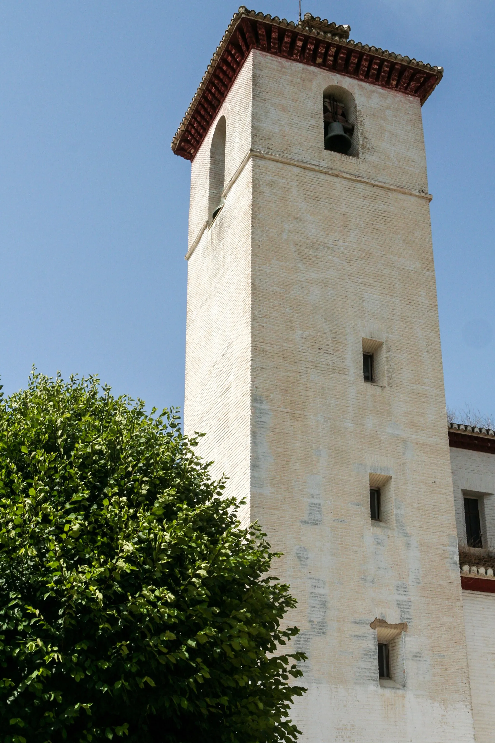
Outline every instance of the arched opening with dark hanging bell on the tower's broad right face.
<svg viewBox="0 0 495 743">
<path fill-rule="evenodd" d="M 323 91 L 324 147 L 357 158 L 357 111 L 353 95 L 339 85 L 329 85 Z"/>
</svg>

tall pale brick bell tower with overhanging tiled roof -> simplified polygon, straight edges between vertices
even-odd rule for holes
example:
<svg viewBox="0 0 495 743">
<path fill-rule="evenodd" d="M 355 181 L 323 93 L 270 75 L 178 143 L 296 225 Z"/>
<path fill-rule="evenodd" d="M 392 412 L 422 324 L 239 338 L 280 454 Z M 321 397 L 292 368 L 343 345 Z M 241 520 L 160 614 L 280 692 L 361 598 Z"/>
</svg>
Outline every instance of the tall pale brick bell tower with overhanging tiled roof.
<svg viewBox="0 0 495 743">
<path fill-rule="evenodd" d="M 304 743 L 473 743 L 422 104 L 442 68 L 241 6 L 191 160 L 186 432 L 283 552 Z"/>
</svg>

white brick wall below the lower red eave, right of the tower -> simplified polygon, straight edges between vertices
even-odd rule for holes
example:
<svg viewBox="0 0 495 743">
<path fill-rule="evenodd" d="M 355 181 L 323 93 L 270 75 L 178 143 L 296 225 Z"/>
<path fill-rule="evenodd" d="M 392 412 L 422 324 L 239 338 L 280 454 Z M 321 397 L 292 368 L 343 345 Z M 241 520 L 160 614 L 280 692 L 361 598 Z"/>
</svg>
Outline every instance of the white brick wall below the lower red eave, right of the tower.
<svg viewBox="0 0 495 743">
<path fill-rule="evenodd" d="M 476 743 L 494 743 L 495 594 L 462 591 L 462 603 Z"/>
</svg>

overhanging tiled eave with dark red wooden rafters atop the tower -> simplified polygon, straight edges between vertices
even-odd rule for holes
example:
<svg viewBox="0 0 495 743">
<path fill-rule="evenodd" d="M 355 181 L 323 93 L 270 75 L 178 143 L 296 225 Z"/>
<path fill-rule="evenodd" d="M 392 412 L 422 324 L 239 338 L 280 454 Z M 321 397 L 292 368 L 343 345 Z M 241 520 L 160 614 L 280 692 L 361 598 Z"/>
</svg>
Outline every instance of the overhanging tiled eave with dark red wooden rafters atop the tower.
<svg viewBox="0 0 495 743">
<path fill-rule="evenodd" d="M 295 24 L 255 13 L 243 5 L 232 18 L 200 87 L 171 143 L 172 151 L 193 160 L 214 117 L 252 49 L 416 96 L 423 104 L 442 80 L 443 69 L 408 56 L 348 39 L 349 26 L 321 22 L 306 13 Z"/>
</svg>

